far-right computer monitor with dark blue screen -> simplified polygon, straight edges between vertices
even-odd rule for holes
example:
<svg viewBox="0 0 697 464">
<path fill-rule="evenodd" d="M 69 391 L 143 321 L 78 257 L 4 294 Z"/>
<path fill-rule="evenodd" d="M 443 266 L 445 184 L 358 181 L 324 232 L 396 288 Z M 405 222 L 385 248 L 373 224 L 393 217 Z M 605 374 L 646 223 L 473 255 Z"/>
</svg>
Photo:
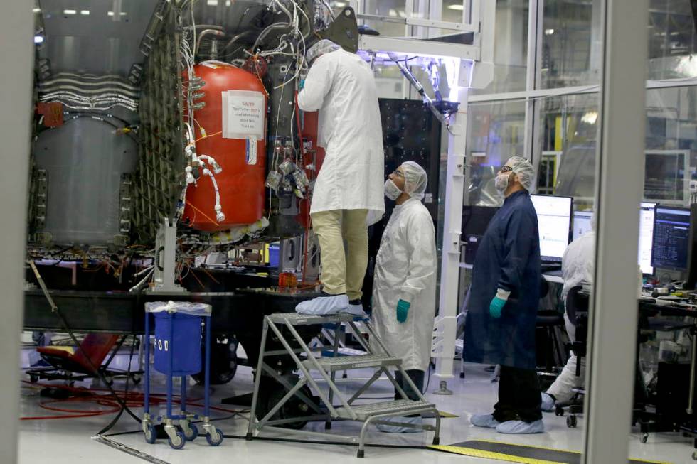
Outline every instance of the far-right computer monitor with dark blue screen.
<svg viewBox="0 0 697 464">
<path fill-rule="evenodd" d="M 656 206 L 651 266 L 685 271 L 690 242 L 690 210 Z"/>
</svg>

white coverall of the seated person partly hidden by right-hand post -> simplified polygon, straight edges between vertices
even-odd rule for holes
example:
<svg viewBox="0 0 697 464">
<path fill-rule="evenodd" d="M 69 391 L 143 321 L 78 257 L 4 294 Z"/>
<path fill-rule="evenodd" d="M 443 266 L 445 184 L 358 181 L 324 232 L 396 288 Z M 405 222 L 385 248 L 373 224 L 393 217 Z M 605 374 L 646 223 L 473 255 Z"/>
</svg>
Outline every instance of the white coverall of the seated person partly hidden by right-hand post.
<svg viewBox="0 0 697 464">
<path fill-rule="evenodd" d="M 569 244 L 561 261 L 564 286 L 562 298 L 566 302 L 566 296 L 572 287 L 578 285 L 593 284 L 593 260 L 595 259 L 595 232 L 592 230 L 582 234 Z M 575 342 L 576 327 L 571 323 L 568 315 L 564 313 L 566 333 L 569 340 Z M 547 389 L 547 393 L 554 396 L 556 401 L 569 401 L 573 396 L 571 389 L 583 386 L 585 377 L 585 362 L 581 360 L 581 375 L 576 377 L 576 356 L 571 353 L 564 369 L 554 383 Z"/>
</svg>

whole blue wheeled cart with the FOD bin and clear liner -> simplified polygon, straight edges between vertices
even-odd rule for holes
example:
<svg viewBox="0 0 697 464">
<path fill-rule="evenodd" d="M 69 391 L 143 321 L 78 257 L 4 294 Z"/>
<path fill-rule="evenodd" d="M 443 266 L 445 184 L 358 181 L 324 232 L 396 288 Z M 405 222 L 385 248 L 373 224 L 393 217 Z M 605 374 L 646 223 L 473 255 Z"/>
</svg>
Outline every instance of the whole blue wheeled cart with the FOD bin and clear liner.
<svg viewBox="0 0 697 464">
<path fill-rule="evenodd" d="M 166 416 L 150 415 L 150 323 L 155 322 L 154 367 L 167 376 Z M 183 301 L 155 301 L 145 303 L 145 407 L 143 432 L 145 441 L 155 443 L 157 433 L 154 421 L 164 422 L 169 446 L 183 448 L 186 441 L 198 436 L 196 424 L 192 420 L 198 415 L 186 411 L 186 376 L 201 372 L 201 327 L 205 328 L 203 430 L 206 441 L 211 446 L 223 442 L 223 433 L 213 426 L 210 417 L 211 399 L 208 392 L 211 368 L 211 305 Z M 179 414 L 172 414 L 172 383 L 174 377 L 181 377 L 181 398 Z"/>
</svg>

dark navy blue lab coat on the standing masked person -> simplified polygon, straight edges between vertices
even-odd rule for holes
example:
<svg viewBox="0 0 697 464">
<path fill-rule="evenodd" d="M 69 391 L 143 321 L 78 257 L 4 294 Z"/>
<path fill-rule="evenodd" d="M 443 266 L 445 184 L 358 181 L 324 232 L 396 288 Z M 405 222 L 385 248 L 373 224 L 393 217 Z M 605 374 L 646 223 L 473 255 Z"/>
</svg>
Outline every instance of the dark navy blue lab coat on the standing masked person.
<svg viewBox="0 0 697 464">
<path fill-rule="evenodd" d="M 489 222 L 472 269 L 464 360 L 535 369 L 535 321 L 540 299 L 540 234 L 530 194 L 510 195 Z M 496 290 L 511 291 L 495 319 Z"/>
</svg>

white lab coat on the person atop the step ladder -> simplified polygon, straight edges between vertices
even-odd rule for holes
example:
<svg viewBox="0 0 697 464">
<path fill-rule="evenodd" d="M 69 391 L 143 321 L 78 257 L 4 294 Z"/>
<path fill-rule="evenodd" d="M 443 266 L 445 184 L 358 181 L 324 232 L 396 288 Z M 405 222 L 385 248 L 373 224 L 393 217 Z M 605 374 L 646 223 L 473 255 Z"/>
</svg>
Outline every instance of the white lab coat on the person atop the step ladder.
<svg viewBox="0 0 697 464">
<path fill-rule="evenodd" d="M 303 111 L 319 109 L 319 146 L 325 149 L 310 213 L 368 210 L 368 225 L 385 212 L 385 161 L 373 72 L 355 53 L 321 55 L 298 95 Z"/>
</svg>

